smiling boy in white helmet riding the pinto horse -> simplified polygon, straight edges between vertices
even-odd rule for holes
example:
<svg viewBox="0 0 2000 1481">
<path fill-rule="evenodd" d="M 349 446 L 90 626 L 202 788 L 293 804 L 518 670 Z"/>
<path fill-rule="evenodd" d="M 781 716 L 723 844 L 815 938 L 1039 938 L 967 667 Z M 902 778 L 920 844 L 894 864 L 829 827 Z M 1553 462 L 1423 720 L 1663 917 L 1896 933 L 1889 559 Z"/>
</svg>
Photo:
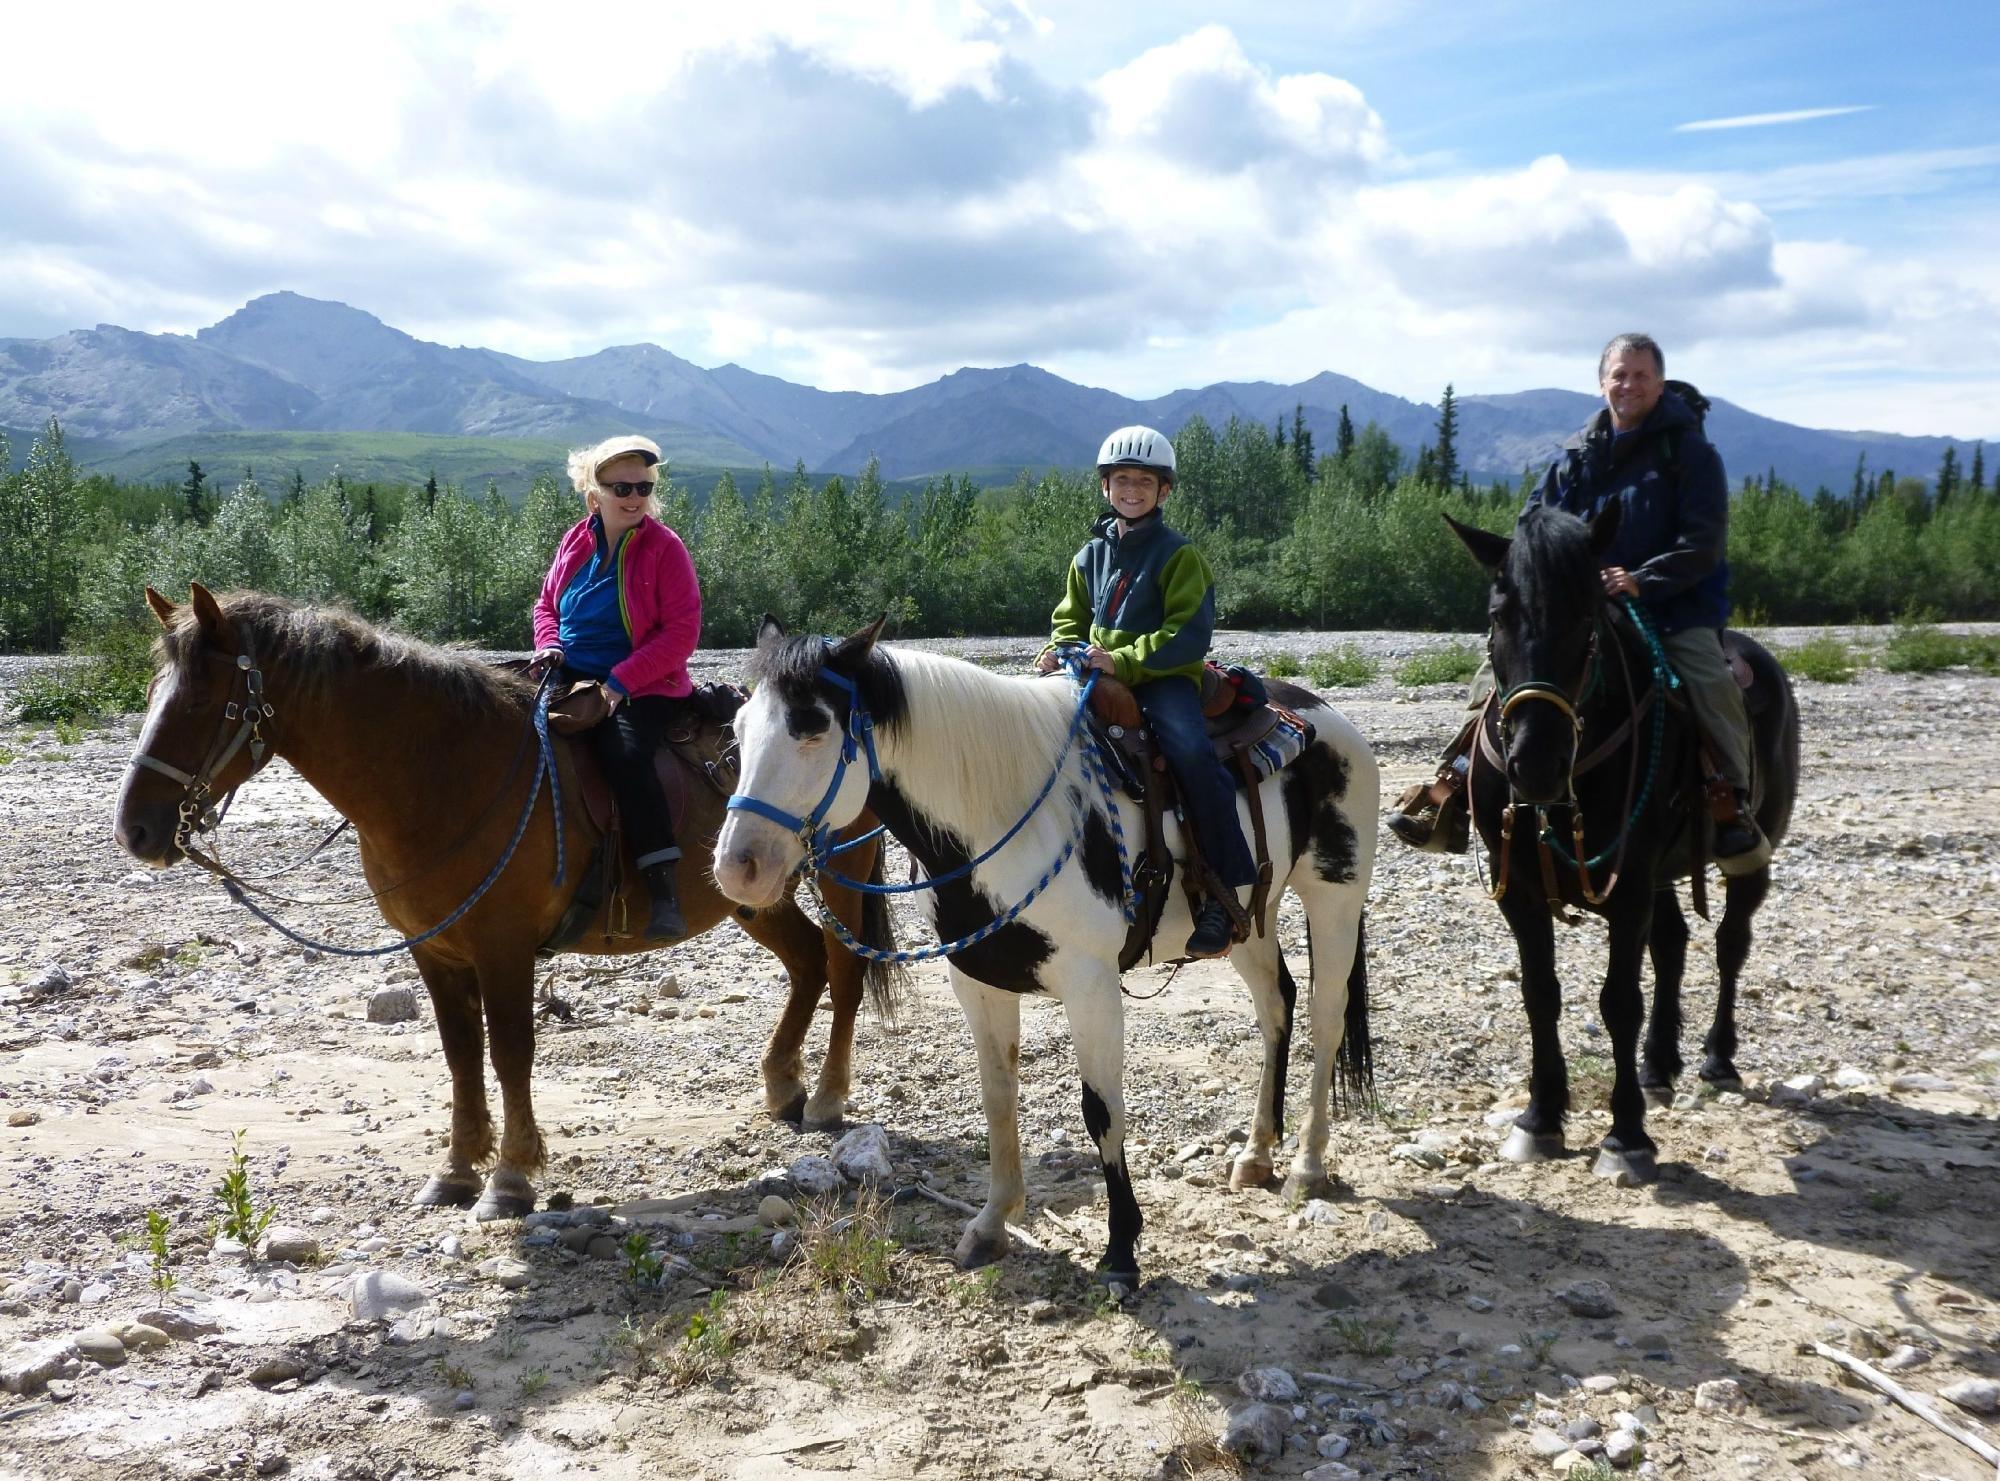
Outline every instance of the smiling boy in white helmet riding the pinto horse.
<svg viewBox="0 0 2000 1481">
<path fill-rule="evenodd" d="M 1194 841 L 1228 889 L 1256 883 L 1236 821 L 1236 783 L 1216 761 L 1202 718 L 1202 664 L 1216 630 L 1216 576 L 1160 506 L 1174 492 L 1174 444 L 1150 426 L 1120 426 L 1098 448 L 1110 512 L 1070 562 L 1036 668 L 1054 672 L 1058 646 L 1082 646 L 1090 668 L 1132 686 L 1154 743 L 1174 769 Z M 1222 957 L 1230 923 L 1218 901 L 1194 913 L 1190 957 Z"/>
</svg>

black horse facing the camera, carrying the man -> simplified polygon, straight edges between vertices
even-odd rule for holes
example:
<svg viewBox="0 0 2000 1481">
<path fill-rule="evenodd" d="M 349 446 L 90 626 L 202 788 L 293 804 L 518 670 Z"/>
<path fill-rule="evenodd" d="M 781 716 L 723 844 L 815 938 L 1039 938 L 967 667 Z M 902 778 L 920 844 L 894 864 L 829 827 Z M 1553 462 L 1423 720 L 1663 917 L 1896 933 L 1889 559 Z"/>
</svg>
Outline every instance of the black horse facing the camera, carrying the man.
<svg viewBox="0 0 2000 1481">
<path fill-rule="evenodd" d="M 1494 696 L 1478 720 L 1470 761 L 1472 821 L 1492 861 L 1492 893 L 1520 947 L 1520 995 L 1534 1041 L 1528 1109 L 1500 1149 L 1516 1163 L 1564 1153 L 1570 1077 L 1556 1021 L 1554 919 L 1584 909 L 1610 923 L 1610 961 L 1598 1011 L 1612 1041 L 1612 1129 L 1596 1173 L 1620 1185 L 1658 1177 L 1646 1103 L 1670 1105 L 1680 1059 L 1680 977 L 1688 921 L 1674 881 L 1692 875 L 1706 905 L 1708 811 L 1698 736 L 1672 696 L 1656 638 L 1622 602 L 1604 596 L 1600 552 L 1620 504 L 1594 522 L 1534 506 L 1514 536 L 1450 520 L 1492 574 Z M 1446 516 L 1450 518 L 1450 516 Z M 1752 809 L 1776 845 L 1798 793 L 1798 704 L 1762 646 L 1726 642 L 1750 664 Z M 1578 867 L 1582 865 L 1582 867 Z M 1726 881 L 1716 967 L 1722 989 L 1704 1043 L 1702 1079 L 1742 1089 L 1736 1053 L 1736 979 L 1750 955 L 1750 917 L 1770 891 L 1770 867 Z M 1706 917 L 1706 909 L 1702 909 Z M 1640 955 L 1654 973 L 1644 1059 L 1638 1031 Z"/>
</svg>

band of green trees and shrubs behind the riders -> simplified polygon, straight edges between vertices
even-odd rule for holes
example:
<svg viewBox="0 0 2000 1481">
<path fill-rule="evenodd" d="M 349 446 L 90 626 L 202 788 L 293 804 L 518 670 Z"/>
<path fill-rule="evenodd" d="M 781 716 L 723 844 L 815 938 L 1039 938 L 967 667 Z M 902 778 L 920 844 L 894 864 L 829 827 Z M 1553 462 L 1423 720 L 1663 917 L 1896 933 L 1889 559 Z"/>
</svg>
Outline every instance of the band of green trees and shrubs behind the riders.
<svg viewBox="0 0 2000 1481">
<path fill-rule="evenodd" d="M 1478 628 L 1484 576 L 1440 514 L 1504 530 L 1538 470 L 1474 486 L 1450 412 L 1448 398 L 1438 444 L 1414 460 L 1346 416 L 1324 450 L 1302 418 L 1188 422 L 1168 516 L 1214 562 L 1222 622 Z M 1856 468 L 1846 496 L 1810 498 L 1776 476 L 1748 480 L 1730 524 L 1738 608 L 1766 622 L 2000 614 L 2000 494 L 1982 456 L 1944 472 L 1932 492 Z M 668 480 L 660 502 L 694 552 L 712 646 L 746 644 L 766 610 L 816 630 L 886 610 L 904 636 L 1040 632 L 1102 510 L 1088 474 L 1006 488 L 934 478 L 900 498 L 874 466 L 826 480 L 766 468 L 748 486 L 724 474 L 700 504 Z M 542 572 L 580 512 L 554 474 L 520 504 L 436 478 L 294 474 L 272 490 L 250 470 L 222 492 L 196 464 L 178 488 L 120 484 L 80 474 L 52 420 L 26 466 L 0 478 L 0 646 L 90 646 L 144 622 L 146 584 L 178 596 L 202 580 L 342 600 L 434 640 L 524 648 Z"/>
</svg>

